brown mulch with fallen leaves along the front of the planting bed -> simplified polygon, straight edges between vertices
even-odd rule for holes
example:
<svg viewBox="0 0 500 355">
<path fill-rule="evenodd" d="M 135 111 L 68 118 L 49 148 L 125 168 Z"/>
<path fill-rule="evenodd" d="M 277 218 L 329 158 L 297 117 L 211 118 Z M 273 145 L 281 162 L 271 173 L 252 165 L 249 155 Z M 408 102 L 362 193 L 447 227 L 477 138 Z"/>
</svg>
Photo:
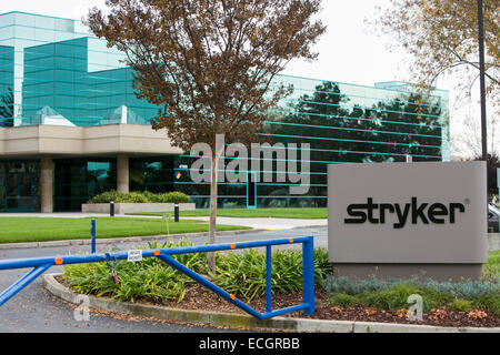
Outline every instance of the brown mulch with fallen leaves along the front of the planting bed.
<svg viewBox="0 0 500 355">
<path fill-rule="evenodd" d="M 56 277 L 58 282 L 66 285 L 62 277 Z M 306 316 L 302 312 L 284 314 L 286 317 L 300 317 L 311 320 L 336 320 L 336 321 L 358 321 L 358 322 L 380 322 L 380 323 L 399 323 L 399 324 L 420 324 L 434 326 L 452 326 L 452 327 L 500 327 L 500 317 L 496 317 L 488 313 L 474 312 L 456 312 L 450 310 L 434 310 L 428 314 L 423 314 L 422 321 L 409 321 L 403 311 L 384 311 L 376 308 L 367 308 L 356 306 L 350 308 L 341 308 L 329 305 L 327 293 L 319 286 L 316 287 L 316 306 L 314 314 Z M 227 302 L 216 293 L 204 288 L 199 284 L 186 285 L 186 296 L 181 302 L 166 302 L 159 304 L 153 300 L 137 300 L 138 303 L 162 305 L 171 308 L 191 310 L 191 311 L 211 311 L 224 313 L 246 314 L 244 311 L 238 308 L 233 304 Z M 284 308 L 302 303 L 302 292 L 281 293 L 272 295 L 272 310 Z M 258 312 L 266 312 L 266 300 L 256 300 L 248 303 Z"/>
</svg>

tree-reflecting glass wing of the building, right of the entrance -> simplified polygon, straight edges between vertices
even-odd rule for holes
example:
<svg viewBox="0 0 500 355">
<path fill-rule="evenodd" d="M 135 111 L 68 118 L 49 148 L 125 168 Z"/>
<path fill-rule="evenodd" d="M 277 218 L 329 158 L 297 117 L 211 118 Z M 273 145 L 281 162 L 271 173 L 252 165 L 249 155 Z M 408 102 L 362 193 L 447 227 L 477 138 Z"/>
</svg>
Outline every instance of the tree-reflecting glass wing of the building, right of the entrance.
<svg viewBox="0 0 500 355">
<path fill-rule="evenodd" d="M 270 112 L 260 133 L 270 144 L 262 149 L 272 152 L 252 155 L 247 163 L 251 169 L 251 161 L 258 161 L 260 176 L 254 185 L 248 179 L 219 184 L 220 206 L 250 206 L 253 199 L 261 207 L 326 206 L 328 164 L 404 162 L 407 155 L 416 162 L 449 160 L 447 91 L 423 97 L 412 85 L 398 82 L 370 88 L 288 75 L 277 80 L 292 84 L 294 90 Z M 303 143 L 310 146 L 309 159 L 300 156 Z M 281 151 L 277 149 L 280 144 Z M 290 155 L 293 146 L 297 150 Z M 196 159 L 182 155 L 177 166 L 191 166 Z M 266 160 L 272 174 L 268 181 L 263 179 L 269 172 Z M 309 190 L 304 194 L 290 193 L 290 186 L 297 184 L 288 179 L 293 161 L 297 172 L 309 163 L 309 172 L 304 172 L 309 174 Z M 176 190 L 190 194 L 198 206 L 208 207 L 210 184 L 192 183 L 190 169 L 180 170 L 184 175 L 176 182 Z"/>
</svg>

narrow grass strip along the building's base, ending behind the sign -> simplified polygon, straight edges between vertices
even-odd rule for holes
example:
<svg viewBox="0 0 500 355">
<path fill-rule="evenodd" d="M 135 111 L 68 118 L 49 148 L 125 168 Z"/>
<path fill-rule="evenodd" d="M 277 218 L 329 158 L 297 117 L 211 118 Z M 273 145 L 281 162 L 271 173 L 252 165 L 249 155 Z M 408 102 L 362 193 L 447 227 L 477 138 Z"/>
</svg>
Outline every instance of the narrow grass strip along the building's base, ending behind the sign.
<svg viewBox="0 0 500 355">
<path fill-rule="evenodd" d="M 307 209 L 218 209 L 217 215 L 221 217 L 274 217 L 274 219 L 327 219 L 327 207 Z M 134 215 L 163 215 L 167 212 L 133 213 Z M 172 213 L 172 212 L 168 212 Z M 180 216 L 209 216 L 210 210 L 181 211 Z"/>
</svg>

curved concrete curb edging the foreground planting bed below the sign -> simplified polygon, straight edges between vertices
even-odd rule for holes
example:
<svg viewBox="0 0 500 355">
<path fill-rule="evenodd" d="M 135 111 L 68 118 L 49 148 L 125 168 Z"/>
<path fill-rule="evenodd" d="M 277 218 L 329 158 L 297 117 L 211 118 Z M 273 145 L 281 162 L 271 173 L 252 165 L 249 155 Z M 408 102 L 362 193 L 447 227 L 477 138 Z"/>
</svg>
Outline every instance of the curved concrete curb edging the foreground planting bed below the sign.
<svg viewBox="0 0 500 355">
<path fill-rule="evenodd" d="M 43 287 L 53 295 L 73 303 L 80 304 L 80 296 L 56 281 L 54 276 L 61 274 L 43 275 Z M 201 323 L 213 326 L 261 328 L 290 332 L 323 332 L 323 333 L 500 333 L 500 328 L 473 328 L 473 327 L 442 327 L 413 324 L 371 323 L 352 321 L 322 321 L 307 318 L 273 317 L 270 320 L 257 320 L 249 315 L 184 311 L 154 305 L 117 302 L 111 300 L 89 297 L 89 307 L 101 311 L 122 313 L 136 316 L 154 317 L 167 321 L 180 321 L 188 323 Z"/>
</svg>

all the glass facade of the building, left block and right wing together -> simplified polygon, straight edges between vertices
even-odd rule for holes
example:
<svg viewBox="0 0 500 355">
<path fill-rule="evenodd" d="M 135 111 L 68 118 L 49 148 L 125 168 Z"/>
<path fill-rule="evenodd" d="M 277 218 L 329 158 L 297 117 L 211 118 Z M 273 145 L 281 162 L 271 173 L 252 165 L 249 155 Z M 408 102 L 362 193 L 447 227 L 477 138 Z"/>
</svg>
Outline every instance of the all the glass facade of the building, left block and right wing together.
<svg viewBox="0 0 500 355">
<path fill-rule="evenodd" d="M 80 21 L 0 14 L 0 126 L 150 124 L 157 108 L 137 99 L 133 72 L 123 59 Z M 293 93 L 269 112 L 260 135 L 270 146 L 246 161 L 246 179 L 219 183 L 220 206 L 324 206 L 328 164 L 403 162 L 407 155 L 413 161 L 449 160 L 447 91 L 422 97 L 401 82 L 364 87 L 290 75 L 278 75 L 278 83 L 292 85 Z M 310 145 L 307 158 L 300 155 L 304 143 Z M 194 183 L 190 178 L 196 159 L 186 154 L 130 158 L 129 187 L 182 191 L 198 207 L 208 207 L 210 182 Z M 226 158 L 221 172 L 231 170 L 231 161 Z M 94 194 L 117 187 L 114 158 L 53 162 L 54 211 L 78 211 Z M 304 194 L 290 193 L 300 184 L 288 174 L 293 163 L 307 174 Z M 39 209 L 39 162 L 22 162 L 23 173 L 9 164 L 0 156 L 0 211 L 9 205 Z M 271 179 L 264 179 L 266 172 Z M 32 192 L 29 203 L 22 197 L 27 191 Z"/>
</svg>

